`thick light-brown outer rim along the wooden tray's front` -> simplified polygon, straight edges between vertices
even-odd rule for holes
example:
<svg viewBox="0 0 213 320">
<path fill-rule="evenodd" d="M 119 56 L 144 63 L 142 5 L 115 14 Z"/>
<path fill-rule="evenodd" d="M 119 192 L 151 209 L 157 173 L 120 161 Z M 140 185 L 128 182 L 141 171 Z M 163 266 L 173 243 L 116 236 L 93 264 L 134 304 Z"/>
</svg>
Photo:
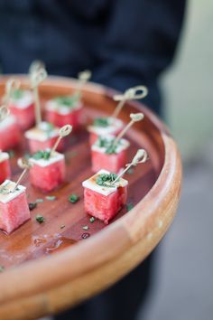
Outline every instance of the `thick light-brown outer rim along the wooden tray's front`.
<svg viewBox="0 0 213 320">
<path fill-rule="evenodd" d="M 76 304 L 116 282 L 152 251 L 173 220 L 181 190 L 181 157 L 177 146 L 171 136 L 162 133 L 162 139 L 165 146 L 162 173 L 131 212 L 102 231 L 101 237 L 97 233 L 87 244 L 81 242 L 76 248 L 58 253 L 57 259 L 56 255 L 38 259 L 18 267 L 19 272 L 12 268 L 0 276 L 5 288 L 0 292 L 0 318 L 10 319 L 12 307 L 23 314 L 21 308 L 28 303 L 35 312 L 32 318 Z M 113 252 L 108 250 L 107 255 L 106 252 L 102 255 L 103 248 L 111 245 Z M 84 259 L 89 258 L 90 262 L 84 265 Z M 19 287 L 18 296 L 15 287 Z"/>
</svg>

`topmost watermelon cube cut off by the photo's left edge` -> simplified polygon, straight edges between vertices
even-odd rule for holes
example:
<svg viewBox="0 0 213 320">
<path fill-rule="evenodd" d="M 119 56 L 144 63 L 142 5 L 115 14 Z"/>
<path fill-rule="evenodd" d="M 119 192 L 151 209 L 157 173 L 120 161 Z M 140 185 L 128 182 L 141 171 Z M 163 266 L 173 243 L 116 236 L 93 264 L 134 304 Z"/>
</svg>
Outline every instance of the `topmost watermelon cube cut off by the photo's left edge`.
<svg viewBox="0 0 213 320">
<path fill-rule="evenodd" d="M 0 149 L 14 148 L 21 141 L 21 132 L 14 116 L 8 116 L 0 122 Z"/>
</svg>

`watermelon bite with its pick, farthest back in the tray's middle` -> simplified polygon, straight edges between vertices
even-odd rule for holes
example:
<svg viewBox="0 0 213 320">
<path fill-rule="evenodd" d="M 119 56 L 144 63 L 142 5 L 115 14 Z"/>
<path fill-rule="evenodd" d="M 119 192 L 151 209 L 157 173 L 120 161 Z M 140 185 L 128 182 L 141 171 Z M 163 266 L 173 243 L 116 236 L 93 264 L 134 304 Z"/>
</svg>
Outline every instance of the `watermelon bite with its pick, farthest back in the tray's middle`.
<svg viewBox="0 0 213 320">
<path fill-rule="evenodd" d="M 72 95 L 59 96 L 47 101 L 45 107 L 47 121 L 57 127 L 69 124 L 73 127 L 73 130 L 79 127 L 83 111 L 81 89 L 90 77 L 90 71 L 80 72 L 78 89 Z"/>
</svg>

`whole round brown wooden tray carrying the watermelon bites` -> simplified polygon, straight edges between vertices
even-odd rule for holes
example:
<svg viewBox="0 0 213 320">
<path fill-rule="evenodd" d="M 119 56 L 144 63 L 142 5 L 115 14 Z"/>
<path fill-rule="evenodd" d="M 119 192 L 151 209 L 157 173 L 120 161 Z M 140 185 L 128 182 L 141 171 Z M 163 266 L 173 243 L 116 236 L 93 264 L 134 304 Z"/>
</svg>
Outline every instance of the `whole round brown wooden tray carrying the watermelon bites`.
<svg viewBox="0 0 213 320">
<path fill-rule="evenodd" d="M 24 76 L 23 87 L 27 85 Z M 5 89 L 6 77 L 0 80 L 0 95 Z M 75 80 L 50 77 L 40 87 L 42 100 L 68 94 L 76 88 Z M 116 106 L 115 91 L 88 83 L 83 90 L 85 121 L 111 114 Z M 91 174 L 88 133 L 84 127 L 70 136 L 66 158 L 68 183 L 47 194 L 33 189 L 27 182 L 29 202 L 44 201 L 32 211 L 32 220 L 23 224 L 12 235 L 0 232 L 0 319 L 35 319 L 54 314 L 66 307 L 95 295 L 114 284 L 137 266 L 154 249 L 168 230 L 180 197 L 181 158 L 173 139 L 162 122 L 140 103 L 126 103 L 121 117 L 125 122 L 130 112 L 142 110 L 143 123 L 129 131 L 132 142 L 129 160 L 138 147 L 144 147 L 150 156 L 145 165 L 138 165 L 126 174 L 129 180 L 127 205 L 116 219 L 105 226 L 101 221 L 90 223 L 83 210 L 81 183 Z M 17 157 L 26 152 L 23 146 L 12 159 L 14 179 L 19 174 Z M 77 193 L 80 201 L 72 204 L 69 194 Z M 50 195 L 50 194 L 49 194 Z M 45 223 L 35 221 L 42 213 Z M 61 225 L 65 225 L 61 229 Z M 88 231 L 82 230 L 84 225 Z M 87 232 L 89 237 L 82 239 Z"/>
</svg>

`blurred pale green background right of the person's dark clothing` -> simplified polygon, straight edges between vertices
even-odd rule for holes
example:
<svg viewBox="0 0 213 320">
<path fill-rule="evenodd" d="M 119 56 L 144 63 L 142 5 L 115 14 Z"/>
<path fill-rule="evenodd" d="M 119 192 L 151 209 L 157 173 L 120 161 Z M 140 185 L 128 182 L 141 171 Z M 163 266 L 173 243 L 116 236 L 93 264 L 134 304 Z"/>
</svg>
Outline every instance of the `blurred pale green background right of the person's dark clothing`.
<svg viewBox="0 0 213 320">
<path fill-rule="evenodd" d="M 213 136 L 212 35 L 213 1 L 189 1 L 176 59 L 162 76 L 166 121 L 186 161 Z"/>
</svg>

